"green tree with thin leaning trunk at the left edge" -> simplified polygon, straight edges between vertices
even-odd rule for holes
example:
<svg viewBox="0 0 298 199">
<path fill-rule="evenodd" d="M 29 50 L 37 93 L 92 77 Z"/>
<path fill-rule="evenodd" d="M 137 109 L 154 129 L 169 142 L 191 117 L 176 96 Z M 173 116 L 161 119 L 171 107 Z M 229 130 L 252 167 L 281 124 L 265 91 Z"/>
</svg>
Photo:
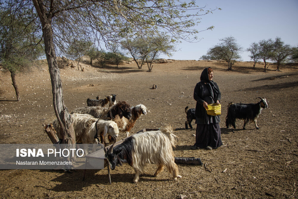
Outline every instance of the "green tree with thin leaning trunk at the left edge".
<svg viewBox="0 0 298 199">
<path fill-rule="evenodd" d="M 28 10 L 27 10 L 28 11 Z M 9 71 L 17 101 L 21 101 L 15 77 L 32 67 L 42 53 L 41 37 L 34 34 L 34 24 L 17 18 L 9 11 L 0 11 L 0 65 Z"/>
</svg>

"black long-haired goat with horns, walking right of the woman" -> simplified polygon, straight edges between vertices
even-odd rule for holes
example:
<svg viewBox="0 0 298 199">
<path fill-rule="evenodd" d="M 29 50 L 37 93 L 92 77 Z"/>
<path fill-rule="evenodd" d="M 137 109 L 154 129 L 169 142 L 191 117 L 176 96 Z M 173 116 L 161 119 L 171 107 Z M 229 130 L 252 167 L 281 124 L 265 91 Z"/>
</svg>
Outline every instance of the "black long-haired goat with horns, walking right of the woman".
<svg viewBox="0 0 298 199">
<path fill-rule="evenodd" d="M 261 100 L 256 104 L 239 104 L 230 102 L 226 116 L 226 127 L 229 128 L 232 125 L 235 129 L 235 120 L 238 118 L 244 120 L 243 129 L 246 129 L 245 125 L 249 121 L 254 121 L 256 129 L 259 129 L 257 126 L 257 117 L 260 115 L 262 109 L 268 108 L 266 98 L 260 99 Z"/>
</svg>

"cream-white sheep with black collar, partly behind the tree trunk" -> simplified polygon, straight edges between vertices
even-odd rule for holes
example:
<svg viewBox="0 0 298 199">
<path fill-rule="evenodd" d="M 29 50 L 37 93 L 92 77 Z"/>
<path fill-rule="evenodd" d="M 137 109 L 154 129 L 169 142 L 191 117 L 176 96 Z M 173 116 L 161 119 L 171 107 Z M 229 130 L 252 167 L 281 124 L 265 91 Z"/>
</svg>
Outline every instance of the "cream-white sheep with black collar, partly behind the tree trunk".
<svg viewBox="0 0 298 199">
<path fill-rule="evenodd" d="M 114 121 L 105 121 L 89 114 L 73 113 L 71 117 L 77 143 L 97 144 L 98 136 L 100 136 L 101 143 L 106 144 L 104 136 L 108 134 L 113 138 L 117 138 L 119 135 L 118 126 Z M 57 132 L 58 138 L 62 138 L 63 130 L 60 128 L 57 119 L 53 121 L 53 126 Z"/>
</svg>

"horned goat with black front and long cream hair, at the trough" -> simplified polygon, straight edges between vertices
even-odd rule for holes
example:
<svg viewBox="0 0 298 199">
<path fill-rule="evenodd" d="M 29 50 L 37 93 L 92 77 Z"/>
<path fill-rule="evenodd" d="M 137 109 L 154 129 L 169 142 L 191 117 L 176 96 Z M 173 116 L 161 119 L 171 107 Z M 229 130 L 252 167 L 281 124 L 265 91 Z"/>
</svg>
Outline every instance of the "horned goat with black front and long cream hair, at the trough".
<svg viewBox="0 0 298 199">
<path fill-rule="evenodd" d="M 107 154 L 114 170 L 117 165 L 128 163 L 136 172 L 133 182 L 139 181 L 139 175 L 144 172 L 148 163 L 156 164 L 155 176 L 163 171 L 166 166 L 169 172 L 173 172 L 173 179 L 182 178 L 179 175 L 178 166 L 174 162 L 172 146 L 175 147 L 177 136 L 173 134 L 171 126 L 166 126 L 158 131 L 137 133 L 126 138 L 122 144 L 114 144 Z"/>
</svg>

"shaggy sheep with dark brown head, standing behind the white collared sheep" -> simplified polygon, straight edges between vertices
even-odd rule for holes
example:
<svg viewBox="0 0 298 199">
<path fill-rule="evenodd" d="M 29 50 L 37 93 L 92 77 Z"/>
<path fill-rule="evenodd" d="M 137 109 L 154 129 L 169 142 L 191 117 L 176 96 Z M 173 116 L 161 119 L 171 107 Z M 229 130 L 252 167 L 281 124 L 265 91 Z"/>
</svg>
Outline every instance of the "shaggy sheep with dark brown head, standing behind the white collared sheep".
<svg viewBox="0 0 298 199">
<path fill-rule="evenodd" d="M 104 108 L 104 107 L 82 107 L 73 110 L 71 113 L 81 113 L 93 115 L 96 118 L 111 118 L 114 119 L 116 115 L 119 115 L 120 118 L 123 116 L 127 119 L 131 118 L 131 108 L 129 104 L 125 101 L 119 101 L 117 104 Z"/>
</svg>

